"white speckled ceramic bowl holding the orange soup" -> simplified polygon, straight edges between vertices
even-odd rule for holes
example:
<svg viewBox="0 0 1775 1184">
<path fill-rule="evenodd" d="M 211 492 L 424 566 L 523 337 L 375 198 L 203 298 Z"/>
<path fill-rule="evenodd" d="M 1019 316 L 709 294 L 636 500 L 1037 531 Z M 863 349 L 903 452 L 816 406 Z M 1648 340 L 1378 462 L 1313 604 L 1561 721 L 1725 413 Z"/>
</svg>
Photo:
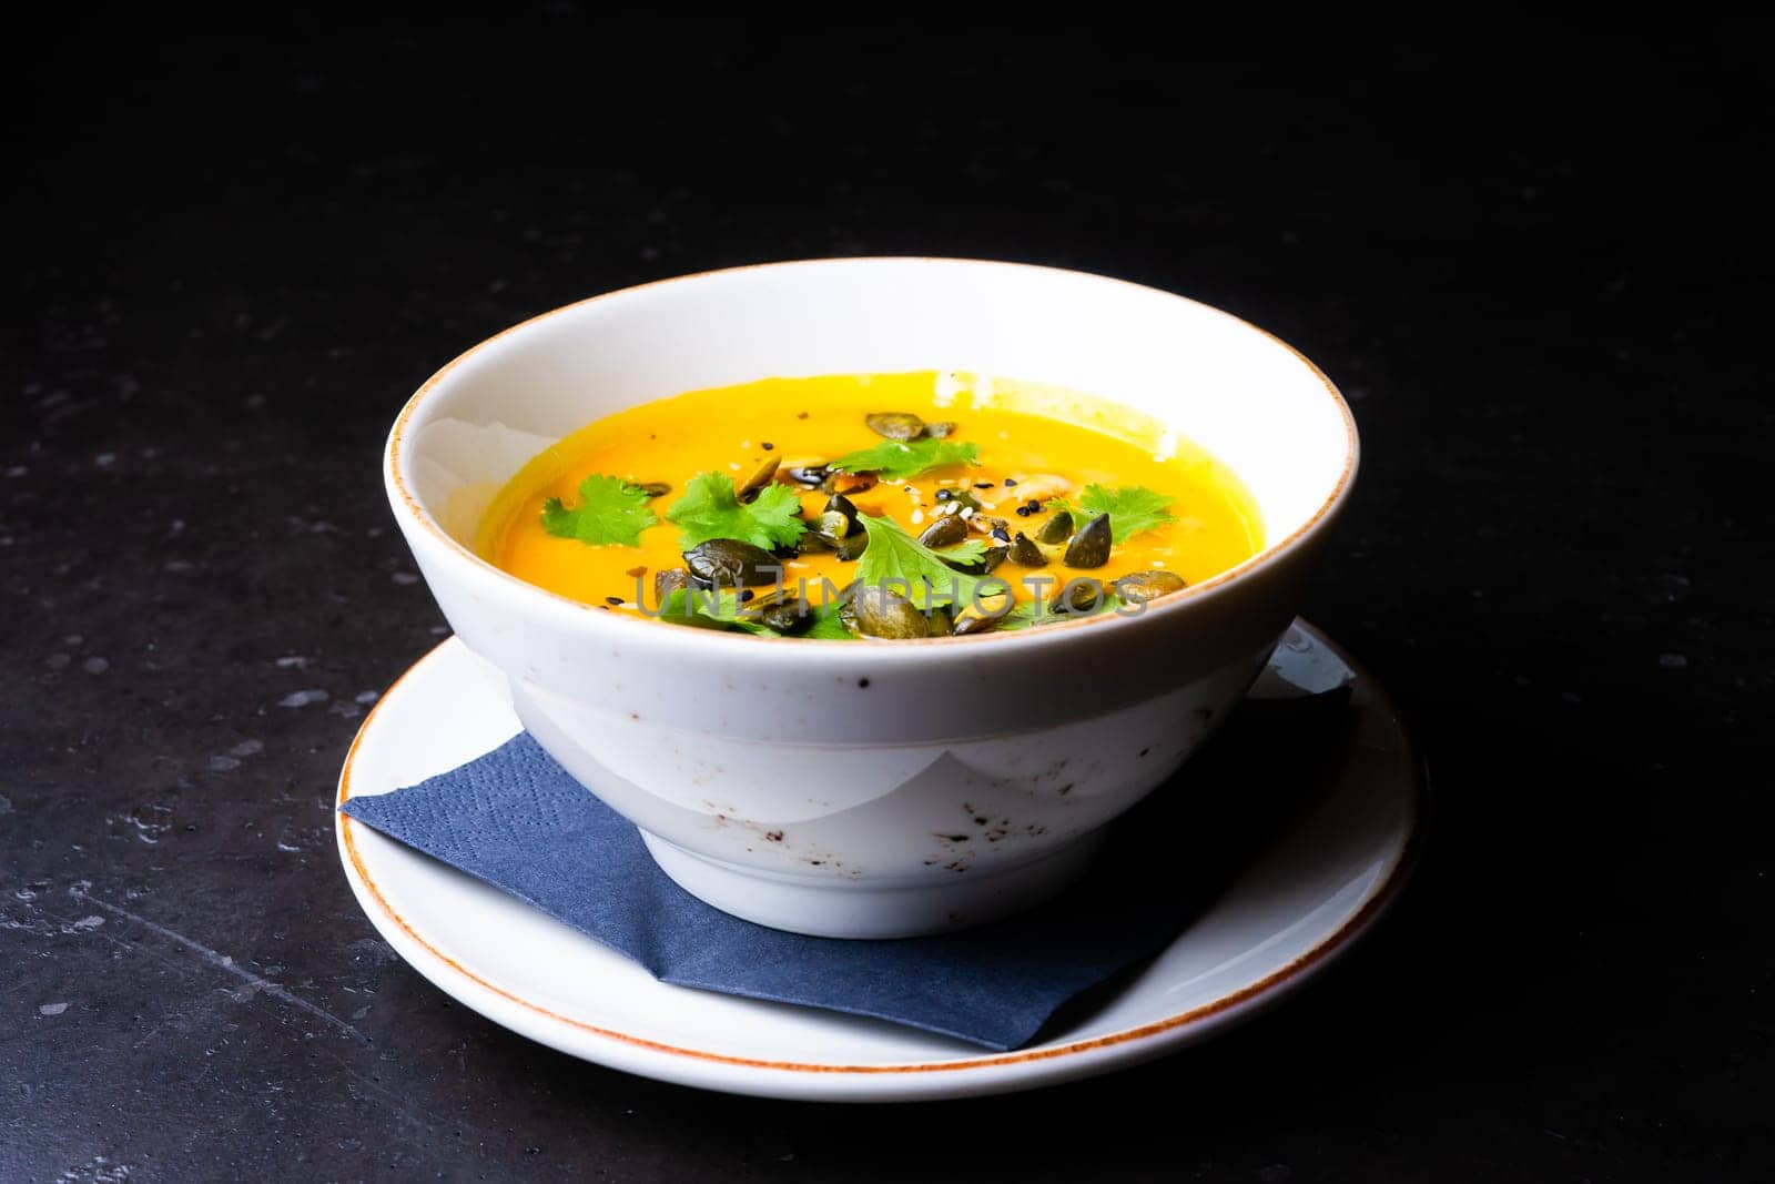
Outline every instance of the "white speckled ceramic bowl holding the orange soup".
<svg viewBox="0 0 1775 1184">
<path fill-rule="evenodd" d="M 1157 415 L 1239 474 L 1267 547 L 1125 620 L 850 644 L 600 612 L 472 552 L 506 479 L 593 419 L 754 378 L 912 369 Z M 737 268 L 545 312 L 433 375 L 385 456 L 419 570 L 531 735 L 678 884 L 834 937 L 987 921 L 1083 872 L 1104 824 L 1262 669 L 1354 472 L 1349 408 L 1282 341 L 1150 288 L 966 259 Z"/>
</svg>

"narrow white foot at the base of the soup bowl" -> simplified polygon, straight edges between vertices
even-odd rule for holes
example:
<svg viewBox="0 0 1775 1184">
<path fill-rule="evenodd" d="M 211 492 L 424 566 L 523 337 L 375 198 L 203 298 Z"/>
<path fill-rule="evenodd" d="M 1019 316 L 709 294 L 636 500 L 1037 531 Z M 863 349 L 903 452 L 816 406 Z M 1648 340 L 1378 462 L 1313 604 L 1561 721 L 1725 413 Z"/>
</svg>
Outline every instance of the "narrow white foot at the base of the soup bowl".
<svg viewBox="0 0 1775 1184">
<path fill-rule="evenodd" d="M 928 882 L 870 884 L 774 877 L 696 856 L 641 833 L 678 888 L 746 921 L 811 937 L 921 937 L 996 921 L 1042 904 L 1085 875 L 1108 827 L 1033 863 L 989 872 L 944 872 Z"/>
</svg>

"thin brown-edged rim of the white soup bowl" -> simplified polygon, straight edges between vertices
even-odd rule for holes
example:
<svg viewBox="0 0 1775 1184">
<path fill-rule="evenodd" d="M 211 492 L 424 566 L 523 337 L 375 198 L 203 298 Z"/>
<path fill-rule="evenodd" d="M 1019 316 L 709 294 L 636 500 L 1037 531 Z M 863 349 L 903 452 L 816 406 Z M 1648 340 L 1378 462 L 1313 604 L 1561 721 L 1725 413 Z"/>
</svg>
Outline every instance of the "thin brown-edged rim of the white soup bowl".
<svg viewBox="0 0 1775 1184">
<path fill-rule="evenodd" d="M 1251 577 L 1255 577 L 1255 575 L 1258 575 L 1258 573 L 1262 573 L 1262 572 L 1266 572 L 1269 568 L 1274 568 L 1282 559 L 1285 559 L 1287 556 L 1301 550 L 1312 538 L 1319 536 L 1321 533 L 1324 533 L 1329 527 L 1329 524 L 1337 517 L 1337 511 L 1342 509 L 1344 502 L 1349 499 L 1349 492 L 1351 492 L 1351 488 L 1354 485 L 1356 470 L 1358 470 L 1358 465 L 1360 465 L 1360 460 L 1361 460 L 1361 442 L 1360 442 L 1360 435 L 1356 431 L 1356 417 L 1351 412 L 1349 403 L 1344 399 L 1342 391 L 1338 391 L 1337 383 L 1331 382 L 1331 378 L 1322 369 L 1319 369 L 1319 366 L 1315 366 L 1312 362 L 1312 359 L 1308 359 L 1305 353 L 1301 353 L 1299 350 L 1296 350 L 1292 344 L 1289 344 L 1287 341 L 1283 341 L 1276 334 L 1271 334 L 1269 330 L 1262 328 L 1260 325 L 1253 325 L 1251 321 L 1244 320 L 1242 316 L 1235 316 L 1232 312 L 1227 312 L 1225 309 L 1218 309 L 1218 307 L 1214 307 L 1211 304 L 1203 304 L 1202 300 L 1195 300 L 1193 296 L 1184 296 L 1180 293 L 1168 291 L 1164 288 L 1154 288 L 1150 284 L 1138 284 L 1134 280 L 1118 279 L 1115 275 L 1102 275 L 1099 272 L 1083 272 L 1083 270 L 1077 270 L 1077 268 L 1058 268 L 1058 266 L 1047 266 L 1047 264 L 1037 264 L 1037 263 L 1017 263 L 1017 261 L 1008 261 L 1008 259 L 969 259 L 969 257 L 953 257 L 953 256 L 832 256 L 832 257 L 822 257 L 822 259 L 783 259 L 783 261 L 772 261 L 772 263 L 749 263 L 749 264 L 728 266 L 728 268 L 710 268 L 710 270 L 705 270 L 705 272 L 689 272 L 685 275 L 671 275 L 671 277 L 666 277 L 666 279 L 648 280 L 644 284 L 632 284 L 628 288 L 618 288 L 618 289 L 612 289 L 612 291 L 605 291 L 605 293 L 598 293 L 598 295 L 593 295 L 593 296 L 586 296 L 582 300 L 573 300 L 570 304 L 563 304 L 563 305 L 557 305 L 554 309 L 547 309 L 543 312 L 538 312 L 536 316 L 531 316 L 531 318 L 525 318 L 522 321 L 517 321 L 515 325 L 508 325 L 506 328 L 499 330 L 492 337 L 485 337 L 483 341 L 477 341 L 476 344 L 469 346 L 467 350 L 463 350 L 462 353 L 458 353 L 456 357 L 453 357 L 449 362 L 446 362 L 444 366 L 440 366 L 437 371 L 433 371 L 433 375 L 430 378 L 426 378 L 419 385 L 419 389 L 414 391 L 412 396 L 408 396 L 406 403 L 401 407 L 399 414 L 396 415 L 394 426 L 389 430 L 389 438 L 387 438 L 387 442 L 383 446 L 383 465 L 382 465 L 383 467 L 383 485 L 387 488 L 390 506 L 396 509 L 396 513 L 405 511 L 410 517 L 410 520 L 415 525 L 419 525 L 421 531 L 424 531 L 431 540 L 435 540 L 437 543 L 440 543 L 444 547 L 444 552 L 449 554 L 453 559 L 465 559 L 477 573 L 493 577 L 495 580 L 499 580 L 501 584 L 504 584 L 508 589 L 511 589 L 515 595 L 518 595 L 522 600 L 527 600 L 527 602 L 534 604 L 538 609 L 545 609 L 545 607 L 547 609 L 566 607 L 566 609 L 579 611 L 577 612 L 579 620 L 589 621 L 591 625 L 588 625 L 588 627 L 591 630 L 595 630 L 595 632 L 596 630 L 604 630 L 604 628 L 619 628 L 619 630 L 644 628 L 644 630 L 648 630 L 648 634 L 628 634 L 628 632 L 616 634 L 618 637 L 630 637 L 630 639 L 643 639 L 646 635 L 657 635 L 657 634 L 687 634 L 687 635 L 694 635 L 694 637 L 701 639 L 696 644 L 746 646 L 746 650 L 754 651 L 754 653 L 756 651 L 779 650 L 781 646 L 788 644 L 788 646 L 793 646 L 793 651 L 797 655 L 801 655 L 802 659 L 811 657 L 813 653 L 836 651 L 836 657 L 843 657 L 848 662 L 848 659 L 854 657 L 854 651 L 852 651 L 850 646 L 834 646 L 834 644 L 829 644 L 824 639 L 816 639 L 816 637 L 754 637 L 751 634 L 728 632 L 728 630 L 714 630 L 714 628 L 674 628 L 674 630 L 660 630 L 660 628 L 657 628 L 659 621 L 648 621 L 648 620 L 641 620 L 641 618 L 630 618 L 628 614 L 616 614 L 616 612 L 602 612 L 600 614 L 596 611 L 598 605 L 584 604 L 580 600 L 573 600 L 570 596 L 563 596 L 559 593 L 552 593 L 552 591 L 548 591 L 545 588 L 531 584 L 529 580 L 518 579 L 517 575 L 511 575 L 504 568 L 499 568 L 499 566 L 488 563 L 486 559 L 483 559 L 481 556 L 477 556 L 470 547 L 465 547 L 460 541 L 456 541 L 437 522 L 437 518 L 431 517 L 431 513 L 419 502 L 419 499 L 414 495 L 412 488 L 408 486 L 408 481 L 405 479 L 403 463 L 401 463 L 403 462 L 403 454 L 401 453 L 403 453 L 405 433 L 406 433 L 408 426 L 412 424 L 414 415 L 417 414 L 417 410 L 421 408 L 421 405 L 424 405 L 428 401 L 428 398 L 433 396 L 438 391 L 438 387 L 444 385 L 444 382 L 451 376 L 451 373 L 458 366 L 462 366 L 469 359 L 479 355 L 481 351 L 492 348 L 495 343 L 504 341 L 509 335 L 520 334 L 520 332 L 524 332 L 524 330 L 527 330 L 527 328 L 531 328 L 534 325 L 540 325 L 541 321 L 547 321 L 550 318 L 561 316 L 564 312 L 573 312 L 577 309 L 582 309 L 582 307 L 588 307 L 588 305 L 593 305 L 593 304 L 600 304 L 600 302 L 605 302 L 605 300 L 618 300 L 618 298 L 623 298 L 623 296 L 632 296 L 632 295 L 641 293 L 641 291 L 651 291 L 651 289 L 666 288 L 669 284 L 683 284 L 683 282 L 689 282 L 689 280 L 714 279 L 714 277 L 719 277 L 719 275 L 738 275 L 738 273 L 744 273 L 744 272 L 763 272 L 763 270 L 777 270 L 777 268 L 818 268 L 822 264 L 841 264 L 841 263 L 852 263 L 852 264 L 854 263 L 888 263 L 888 264 L 905 264 L 905 263 L 925 264 L 925 263 L 932 263 L 932 264 L 950 264 L 950 266 L 962 264 L 962 266 L 987 266 L 987 268 L 1006 268 L 1006 270 L 1024 270 L 1024 272 L 1047 272 L 1047 273 L 1056 273 L 1056 275 L 1065 275 L 1065 277 L 1074 277 L 1074 279 L 1083 277 L 1083 279 L 1090 279 L 1090 280 L 1097 280 L 1097 282 L 1104 282 L 1104 284 L 1116 284 L 1116 286 L 1122 286 L 1122 288 L 1132 288 L 1132 289 L 1141 291 L 1141 293 L 1161 295 L 1161 296 L 1168 296 L 1172 300 L 1182 300 L 1186 304 L 1196 305 L 1202 311 L 1212 312 L 1214 316 L 1225 318 L 1227 321 L 1232 321 L 1234 325 L 1237 325 L 1241 328 L 1246 328 L 1246 330 L 1250 330 L 1253 334 L 1258 334 L 1260 337 L 1266 337 L 1267 341 L 1271 341 L 1271 343 L 1282 346 L 1283 350 L 1287 350 L 1289 355 L 1292 355 L 1296 362 L 1299 362 L 1301 366 L 1305 366 L 1306 371 L 1321 383 L 1321 387 L 1324 387 L 1326 396 L 1331 399 L 1335 410 L 1338 412 L 1338 415 L 1344 421 L 1344 467 L 1338 472 L 1337 481 L 1331 485 L 1331 492 L 1326 495 L 1326 499 L 1314 509 L 1314 513 L 1306 518 L 1306 522 L 1303 522 L 1296 529 L 1289 531 L 1289 534 L 1285 534 L 1283 538 L 1278 538 L 1278 540 L 1274 540 L 1271 543 L 1266 543 L 1260 550 L 1257 550 L 1257 554 L 1253 554 L 1253 556 L 1250 556 L 1246 559 L 1241 559 L 1239 563 L 1235 563 L 1234 566 L 1227 568 L 1225 572 L 1218 572 L 1216 575 L 1212 575 L 1212 577 L 1209 577 L 1209 579 L 1205 579 L 1205 580 L 1202 580 L 1198 584 L 1191 584 L 1189 588 L 1184 588 L 1182 591 L 1172 593 L 1172 595 L 1163 596 L 1159 600 L 1152 600 L 1152 602 L 1147 604 L 1147 607 L 1141 612 L 1136 612 L 1136 614 L 1125 616 L 1125 618 L 1124 616 L 1116 616 L 1115 612 L 1104 612 L 1104 614 L 1099 614 L 1099 616 L 1090 616 L 1090 618 L 1083 618 L 1083 620 L 1076 620 L 1076 621 L 1056 621 L 1053 625 L 1044 625 L 1040 628 L 1015 630 L 1015 632 L 1003 634 L 1003 635 L 983 634 L 980 637 L 953 637 L 951 635 L 951 637 L 870 639 L 870 655 L 872 657 L 886 657 L 888 653 L 912 653 L 912 651 L 927 651 L 928 653 L 930 650 L 935 650 L 935 648 L 951 648 L 951 646 L 957 646 L 957 644 L 966 646 L 966 651 L 971 653 L 973 646 L 982 644 L 987 639 L 990 639 L 990 646 L 989 646 L 990 651 L 1005 651 L 1005 650 L 1010 650 L 1010 648 L 1028 650 L 1028 648 L 1038 646 L 1038 644 L 1053 644 L 1053 643 L 1065 641 L 1067 637 L 1074 637 L 1077 634 L 1077 630 L 1083 630 L 1083 628 L 1132 628 L 1140 621 L 1145 621 L 1148 618 L 1164 620 L 1168 616 L 1175 616 L 1175 614 L 1180 614 L 1180 612 L 1189 612 L 1193 605 L 1200 605 L 1200 604 L 1203 604 L 1207 600 L 1214 600 L 1214 598 L 1219 598 L 1221 595 L 1235 591 L 1241 584 L 1248 584 L 1251 580 Z M 655 637 L 655 639 L 664 641 L 662 637 Z M 760 644 L 760 643 L 763 643 L 763 644 Z M 735 651 L 735 653 L 738 653 L 738 651 Z"/>
</svg>

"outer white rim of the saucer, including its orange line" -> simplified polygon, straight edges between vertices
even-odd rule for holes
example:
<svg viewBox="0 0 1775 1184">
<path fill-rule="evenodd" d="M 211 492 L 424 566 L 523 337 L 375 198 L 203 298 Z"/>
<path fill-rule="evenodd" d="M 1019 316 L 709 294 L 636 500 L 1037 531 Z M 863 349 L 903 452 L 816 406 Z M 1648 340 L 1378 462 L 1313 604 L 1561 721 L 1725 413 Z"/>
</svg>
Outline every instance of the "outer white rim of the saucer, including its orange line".
<svg viewBox="0 0 1775 1184">
<path fill-rule="evenodd" d="M 339 811 L 339 806 L 351 797 L 353 763 L 359 749 L 371 731 L 371 726 L 376 722 L 378 714 L 399 692 L 401 685 L 408 678 L 415 676 L 433 659 L 447 651 L 451 646 L 458 646 L 467 651 L 467 646 L 454 635 L 435 644 L 412 666 L 408 666 L 399 678 L 389 683 L 389 689 L 364 715 L 362 724 L 359 724 L 357 735 L 351 738 L 351 746 L 346 749 L 344 763 L 339 770 L 339 785 L 334 801 L 334 829 L 339 856 L 344 866 L 346 880 L 351 886 L 353 896 L 357 896 L 359 907 L 364 909 L 375 928 L 389 939 L 396 951 L 401 953 L 403 960 L 414 966 L 421 976 L 502 1028 L 518 1031 L 518 1035 L 534 1038 L 580 1060 L 593 1060 L 625 1072 L 637 1072 L 641 1076 L 653 1076 L 683 1085 L 779 1097 L 831 1097 L 827 1092 L 818 1088 L 809 1090 L 806 1086 L 813 1086 L 815 1083 L 834 1085 L 838 1079 L 875 1083 L 877 1086 L 896 1083 L 902 1086 L 898 1093 L 868 1088 L 864 1093 L 856 1095 L 856 1101 L 893 1101 L 895 1097 L 905 1097 L 911 1101 L 912 1097 L 934 1097 L 944 1093 L 1006 1092 L 1031 1088 L 1037 1085 L 1051 1085 L 1079 1076 L 1092 1076 L 1095 1072 L 1108 1072 L 1109 1069 L 1150 1060 L 1172 1049 L 1182 1047 L 1184 1044 L 1202 1040 L 1228 1024 L 1255 1015 L 1258 1010 L 1264 1010 L 1267 1005 L 1280 1001 L 1283 996 L 1301 987 L 1317 973 L 1331 966 L 1331 962 L 1344 955 L 1360 935 L 1374 927 L 1374 923 L 1399 898 L 1400 889 L 1411 879 L 1411 873 L 1422 857 L 1429 815 L 1429 777 L 1422 753 L 1413 742 L 1409 730 L 1404 726 L 1397 705 L 1374 680 L 1374 676 L 1340 644 L 1328 637 L 1324 630 L 1301 618 L 1296 618 L 1294 625 L 1308 632 L 1315 643 L 1324 644 L 1338 659 L 1342 659 L 1345 666 L 1354 671 L 1356 678 L 1367 683 L 1376 699 L 1376 706 L 1395 721 L 1400 742 L 1406 749 L 1406 767 L 1411 770 L 1411 785 L 1406 790 L 1404 841 L 1395 850 L 1386 873 L 1369 889 L 1361 904 L 1356 905 L 1356 909 L 1351 911 L 1338 923 L 1338 927 L 1331 930 L 1331 934 L 1310 950 L 1303 951 L 1294 960 L 1271 971 L 1269 975 L 1244 983 L 1235 991 L 1228 991 L 1216 999 L 1184 1008 L 1145 1024 L 1124 1028 L 1120 1031 L 1102 1033 L 1083 1040 L 1058 1040 L 1035 1047 L 1010 1049 L 1006 1053 L 980 1053 L 925 1062 L 840 1063 L 769 1060 L 760 1056 L 719 1053 L 714 1049 L 687 1047 L 632 1031 L 621 1031 L 618 1028 L 605 1028 L 572 1015 L 563 1015 L 543 1003 L 525 999 L 509 987 L 483 978 L 428 941 L 405 916 L 401 916 L 398 909 L 394 909 L 364 864 L 364 856 L 359 850 L 351 818 Z M 394 934 L 399 934 L 405 941 L 396 941 Z M 424 953 L 428 964 L 421 964 L 421 960 L 414 957 L 414 951 L 401 948 L 408 943 L 417 948 L 417 951 Z M 495 999 L 517 1005 L 520 1012 L 513 1017 L 488 1014 L 476 1001 L 463 998 L 463 989 L 490 992 Z M 737 1001 L 746 1003 L 746 999 Z M 524 1015 L 524 1012 L 529 1012 L 529 1015 Z M 515 1026 L 515 1021 L 520 1019 L 527 1019 L 529 1022 Z M 556 1030 L 552 1033 L 556 1038 L 550 1038 L 550 1026 Z M 616 1060 L 602 1060 L 588 1053 L 580 1044 L 572 1042 L 568 1038 L 570 1035 L 609 1040 L 612 1044 L 611 1053 Z M 630 1056 L 623 1056 L 619 1049 L 627 1051 L 630 1056 L 641 1054 L 643 1058 L 662 1058 L 659 1060 L 659 1067 L 664 1072 L 650 1072 L 648 1067 L 630 1063 Z M 1037 1069 L 1038 1072 L 1030 1072 L 1031 1069 Z M 698 1070 L 714 1070 L 730 1079 L 703 1079 L 698 1077 Z M 779 1083 L 779 1086 L 760 1090 L 754 1085 L 731 1079 L 735 1070 L 738 1070 L 742 1077 L 749 1079 L 758 1079 L 760 1076 L 772 1077 Z M 1010 1076 L 1006 1076 L 1005 1070 L 1010 1070 Z M 801 1083 L 801 1088 L 781 1088 L 785 1079 Z M 944 1085 L 935 1085 L 935 1081 L 943 1081 Z M 927 1088 L 925 1083 L 932 1083 L 935 1088 Z"/>
</svg>

